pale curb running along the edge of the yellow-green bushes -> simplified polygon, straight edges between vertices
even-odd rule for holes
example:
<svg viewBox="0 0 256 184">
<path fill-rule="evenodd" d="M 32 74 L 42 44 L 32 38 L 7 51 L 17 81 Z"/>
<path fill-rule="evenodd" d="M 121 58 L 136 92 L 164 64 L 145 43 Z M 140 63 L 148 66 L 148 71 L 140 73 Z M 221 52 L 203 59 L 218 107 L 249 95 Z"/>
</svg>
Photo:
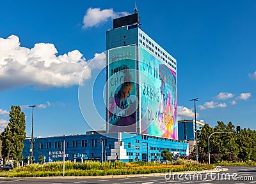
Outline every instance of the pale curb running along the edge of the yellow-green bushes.
<svg viewBox="0 0 256 184">
<path fill-rule="evenodd" d="M 221 172 L 228 171 L 227 168 L 223 168 Z M 173 172 L 175 174 L 203 174 L 203 173 L 219 173 L 216 169 L 203 170 L 203 171 L 185 171 L 185 172 Z M 107 179 L 107 178 L 135 178 L 135 177 L 148 177 L 148 176 L 165 176 L 167 173 L 152 173 L 152 174 L 129 174 L 129 175 L 108 175 L 108 176 L 52 176 L 52 177 L 24 177 L 24 178 L 12 178 L 20 180 L 28 179 L 44 179 L 44 180 L 54 180 L 54 179 Z M 0 177 L 0 179 L 10 180 L 10 178 Z"/>
</svg>

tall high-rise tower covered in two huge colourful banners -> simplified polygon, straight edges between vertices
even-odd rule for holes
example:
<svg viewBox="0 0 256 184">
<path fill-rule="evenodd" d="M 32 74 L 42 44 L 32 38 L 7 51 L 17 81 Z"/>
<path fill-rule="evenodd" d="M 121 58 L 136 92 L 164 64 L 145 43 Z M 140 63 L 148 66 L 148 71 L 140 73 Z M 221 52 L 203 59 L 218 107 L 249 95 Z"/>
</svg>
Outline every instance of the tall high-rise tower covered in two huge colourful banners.
<svg viewBox="0 0 256 184">
<path fill-rule="evenodd" d="M 176 59 L 140 28 L 136 11 L 106 37 L 107 132 L 178 139 Z"/>
</svg>

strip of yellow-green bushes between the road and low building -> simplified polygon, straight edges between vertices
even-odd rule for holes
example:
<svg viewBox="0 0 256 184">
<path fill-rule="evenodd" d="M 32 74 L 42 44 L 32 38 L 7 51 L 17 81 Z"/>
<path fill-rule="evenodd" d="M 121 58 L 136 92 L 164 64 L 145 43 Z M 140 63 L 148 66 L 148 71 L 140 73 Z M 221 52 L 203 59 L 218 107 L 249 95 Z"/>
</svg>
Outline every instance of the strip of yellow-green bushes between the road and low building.
<svg viewBox="0 0 256 184">
<path fill-rule="evenodd" d="M 195 171 L 213 169 L 214 166 L 197 164 L 195 161 L 180 160 L 175 164 L 157 164 L 146 162 L 100 162 L 87 161 L 84 163 L 65 162 L 65 176 L 104 176 L 123 174 L 168 173 L 169 171 Z M 26 167 L 15 168 L 11 172 L 0 172 L 6 177 L 45 177 L 63 176 L 63 163 L 51 162 L 47 164 L 31 164 Z"/>
</svg>

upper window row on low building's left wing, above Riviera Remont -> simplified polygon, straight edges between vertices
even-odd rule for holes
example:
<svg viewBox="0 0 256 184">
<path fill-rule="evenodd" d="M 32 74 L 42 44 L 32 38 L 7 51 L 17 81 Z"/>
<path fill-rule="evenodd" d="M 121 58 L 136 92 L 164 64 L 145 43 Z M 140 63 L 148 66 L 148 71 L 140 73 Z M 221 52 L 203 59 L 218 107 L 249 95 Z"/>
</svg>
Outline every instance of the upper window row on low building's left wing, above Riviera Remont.
<svg viewBox="0 0 256 184">
<path fill-rule="evenodd" d="M 97 146 L 98 139 L 92 139 L 91 140 L 91 145 L 90 146 Z M 103 139 L 104 146 L 108 145 L 107 139 Z M 72 148 L 77 148 L 78 146 L 78 141 L 72 141 Z M 100 145 L 100 144 L 99 144 Z M 65 148 L 68 148 L 70 146 L 70 143 L 68 141 L 65 141 Z M 87 147 L 88 145 L 88 140 L 82 140 L 81 141 L 81 146 L 82 147 Z M 63 147 L 63 142 L 54 142 L 54 148 L 62 148 Z M 47 142 L 46 143 L 46 149 L 51 149 L 52 148 L 52 143 Z M 44 143 L 38 143 L 38 150 L 44 149 Z"/>
</svg>

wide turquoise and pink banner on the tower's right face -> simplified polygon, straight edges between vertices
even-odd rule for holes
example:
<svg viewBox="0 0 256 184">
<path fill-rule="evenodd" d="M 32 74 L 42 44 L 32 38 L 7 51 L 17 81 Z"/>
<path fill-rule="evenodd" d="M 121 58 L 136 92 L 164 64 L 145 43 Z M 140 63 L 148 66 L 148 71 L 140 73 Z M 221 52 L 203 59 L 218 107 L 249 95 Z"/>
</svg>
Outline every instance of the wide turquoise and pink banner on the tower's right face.
<svg viewBox="0 0 256 184">
<path fill-rule="evenodd" d="M 140 47 L 141 134 L 178 139 L 176 73 Z"/>
</svg>

